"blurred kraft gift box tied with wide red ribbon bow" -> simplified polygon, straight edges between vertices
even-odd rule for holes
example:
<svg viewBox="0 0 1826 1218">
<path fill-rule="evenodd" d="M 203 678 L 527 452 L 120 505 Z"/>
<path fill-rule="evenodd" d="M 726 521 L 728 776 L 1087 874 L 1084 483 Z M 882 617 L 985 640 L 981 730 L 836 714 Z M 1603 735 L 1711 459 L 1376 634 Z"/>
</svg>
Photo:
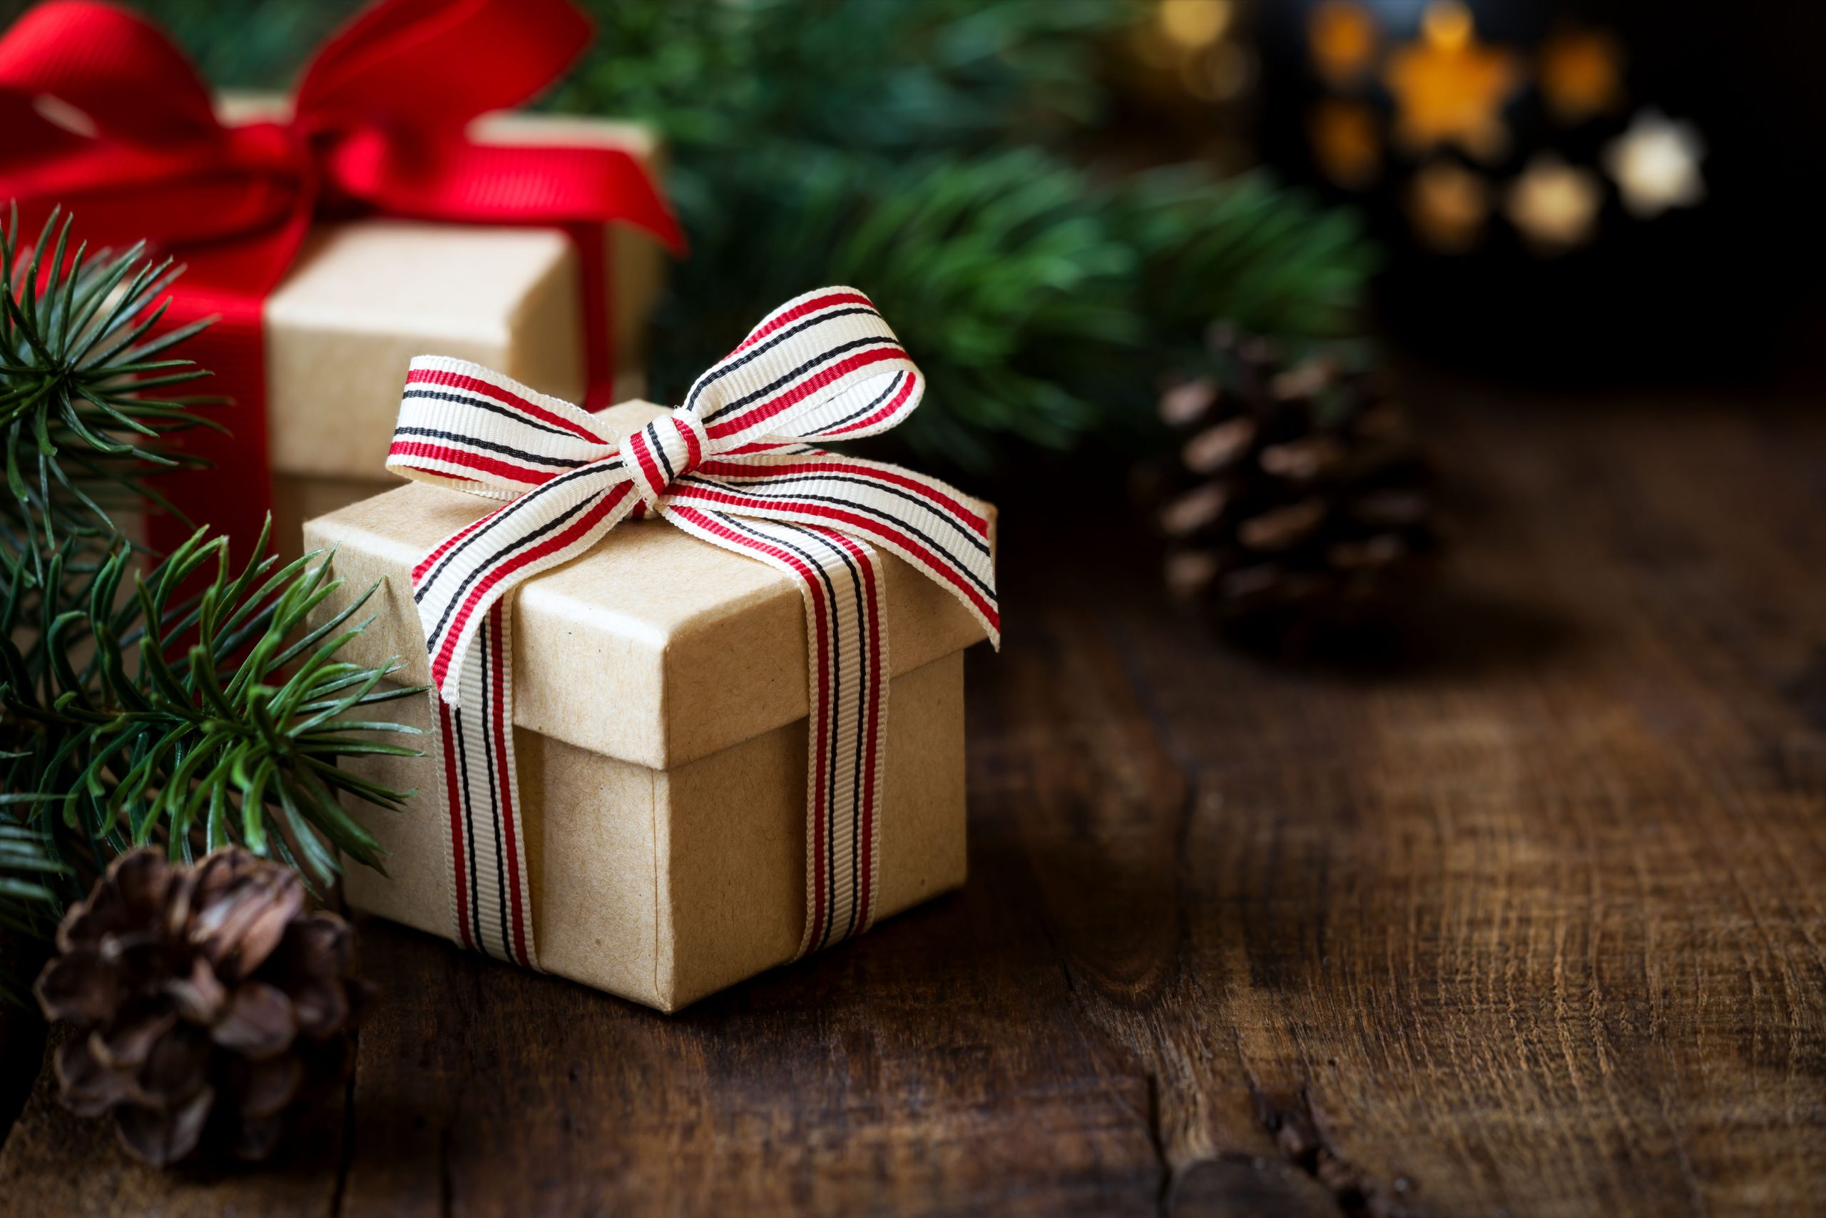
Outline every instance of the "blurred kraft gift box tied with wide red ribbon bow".
<svg viewBox="0 0 1826 1218">
<path fill-rule="evenodd" d="M 161 442 L 206 467 L 157 480 L 183 515 L 150 517 L 155 550 L 195 524 L 245 550 L 272 511 L 299 553 L 307 517 L 385 486 L 391 382 L 420 351 L 590 409 L 632 391 L 659 247 L 681 247 L 657 141 L 511 113 L 588 40 L 570 0 L 378 0 L 290 97 L 217 99 L 124 7 L 47 0 L 5 31 L 0 199 L 170 256 L 161 325 L 205 327 L 184 354 L 223 429 Z"/>
</svg>

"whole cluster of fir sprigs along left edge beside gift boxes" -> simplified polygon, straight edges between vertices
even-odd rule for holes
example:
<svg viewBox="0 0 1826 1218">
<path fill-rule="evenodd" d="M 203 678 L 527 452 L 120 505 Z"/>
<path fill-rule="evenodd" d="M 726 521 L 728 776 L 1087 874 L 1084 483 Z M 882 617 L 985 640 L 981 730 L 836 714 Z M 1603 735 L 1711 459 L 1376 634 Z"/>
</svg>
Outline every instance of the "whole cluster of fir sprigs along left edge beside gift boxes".
<svg viewBox="0 0 1826 1218">
<path fill-rule="evenodd" d="M 163 502 L 144 477 L 183 458 L 159 440 L 206 402 L 170 396 L 206 376 L 175 354 L 203 323 L 157 331 L 179 272 L 142 247 L 71 250 L 68 217 L 29 252 L 16 215 L 0 230 L 0 937 L 44 940 L 146 844 L 247 845 L 321 889 L 343 855 L 382 864 L 340 798 L 409 794 L 341 767 L 416 752 L 378 740 L 416 729 L 373 709 L 422 690 L 338 659 L 367 595 L 329 612 L 325 557 L 279 564 L 265 531 L 239 568 L 205 530 L 141 572 L 121 530 L 121 509 Z"/>
</svg>

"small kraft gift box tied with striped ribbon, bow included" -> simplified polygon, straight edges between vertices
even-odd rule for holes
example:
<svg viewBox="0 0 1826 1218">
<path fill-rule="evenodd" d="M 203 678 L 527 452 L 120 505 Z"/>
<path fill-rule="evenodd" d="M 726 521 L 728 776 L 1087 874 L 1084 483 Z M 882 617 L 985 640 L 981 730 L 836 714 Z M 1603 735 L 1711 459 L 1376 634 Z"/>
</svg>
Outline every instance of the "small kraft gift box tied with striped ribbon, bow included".
<svg viewBox="0 0 1826 1218">
<path fill-rule="evenodd" d="M 677 1010 L 964 882 L 962 648 L 999 641 L 993 509 L 836 455 L 918 404 L 853 289 L 802 296 L 685 405 L 586 413 L 411 363 L 389 467 L 307 524 L 374 586 L 347 656 L 431 694 L 360 776 L 358 909 Z M 511 612 L 509 612 L 511 606 Z"/>
</svg>

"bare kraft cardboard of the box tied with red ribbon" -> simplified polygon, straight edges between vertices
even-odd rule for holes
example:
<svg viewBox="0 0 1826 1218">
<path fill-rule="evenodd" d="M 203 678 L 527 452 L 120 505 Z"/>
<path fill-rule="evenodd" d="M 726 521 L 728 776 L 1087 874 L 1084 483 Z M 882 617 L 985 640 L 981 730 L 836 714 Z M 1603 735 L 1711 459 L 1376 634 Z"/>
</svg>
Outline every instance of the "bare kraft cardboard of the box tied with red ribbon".
<svg viewBox="0 0 1826 1218">
<path fill-rule="evenodd" d="M 290 102 L 226 95 L 228 122 L 283 119 Z M 498 113 L 478 142 L 597 146 L 630 153 L 659 179 L 661 142 L 639 124 Z M 665 252 L 646 234 L 608 226 L 604 287 L 615 398 L 645 389 L 646 320 L 665 281 Z M 466 226 L 407 219 L 318 225 L 263 309 L 267 446 L 274 544 L 301 553 L 303 522 L 378 495 L 398 413 L 398 369 L 440 351 L 500 369 L 540 393 L 584 396 L 582 270 L 555 228 Z"/>
</svg>

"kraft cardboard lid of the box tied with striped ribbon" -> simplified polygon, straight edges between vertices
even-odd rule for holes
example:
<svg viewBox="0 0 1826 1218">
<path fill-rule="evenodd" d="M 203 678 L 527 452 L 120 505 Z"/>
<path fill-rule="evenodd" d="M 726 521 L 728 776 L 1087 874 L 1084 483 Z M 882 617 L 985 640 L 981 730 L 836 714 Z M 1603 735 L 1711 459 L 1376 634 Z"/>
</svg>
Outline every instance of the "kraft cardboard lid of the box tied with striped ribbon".
<svg viewBox="0 0 1826 1218">
<path fill-rule="evenodd" d="M 617 431 L 661 407 L 603 413 Z M 334 573 L 378 617 L 345 650 L 398 656 L 396 679 L 427 683 L 411 570 L 498 502 L 424 484 L 376 495 L 305 526 L 307 550 L 334 548 Z M 982 637 L 950 592 L 887 559 L 887 659 L 898 676 Z M 774 568 L 663 520 L 624 520 L 590 553 L 520 584 L 513 615 L 513 721 L 654 769 L 670 769 L 807 712 L 805 608 Z M 889 710 L 891 712 L 891 710 Z"/>
</svg>

